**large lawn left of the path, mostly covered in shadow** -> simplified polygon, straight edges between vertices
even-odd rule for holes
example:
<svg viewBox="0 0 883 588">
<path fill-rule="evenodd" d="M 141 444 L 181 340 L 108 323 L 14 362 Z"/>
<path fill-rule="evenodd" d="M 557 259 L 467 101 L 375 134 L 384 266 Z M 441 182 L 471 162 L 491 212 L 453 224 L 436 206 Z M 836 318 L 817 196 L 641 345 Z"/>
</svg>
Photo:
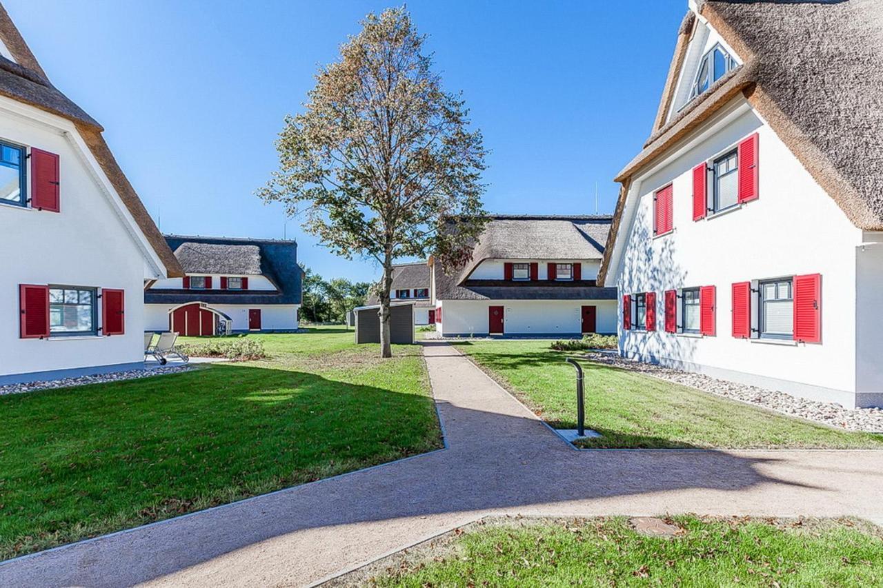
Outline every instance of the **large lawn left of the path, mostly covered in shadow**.
<svg viewBox="0 0 883 588">
<path fill-rule="evenodd" d="M 0 558 L 442 446 L 418 346 L 248 336 L 270 357 L 0 397 Z"/>
</svg>

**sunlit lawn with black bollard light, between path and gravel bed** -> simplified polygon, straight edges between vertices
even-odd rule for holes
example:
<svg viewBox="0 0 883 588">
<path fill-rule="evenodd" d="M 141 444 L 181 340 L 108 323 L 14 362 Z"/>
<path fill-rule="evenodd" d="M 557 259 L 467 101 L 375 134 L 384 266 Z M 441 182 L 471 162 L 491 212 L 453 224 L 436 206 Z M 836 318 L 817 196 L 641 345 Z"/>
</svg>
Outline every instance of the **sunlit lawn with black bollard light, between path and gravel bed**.
<svg viewBox="0 0 883 588">
<path fill-rule="evenodd" d="M 576 374 L 548 341 L 457 343 L 555 428 L 576 428 Z M 883 449 L 883 435 L 790 418 L 640 373 L 582 362 L 588 448 Z"/>
</svg>

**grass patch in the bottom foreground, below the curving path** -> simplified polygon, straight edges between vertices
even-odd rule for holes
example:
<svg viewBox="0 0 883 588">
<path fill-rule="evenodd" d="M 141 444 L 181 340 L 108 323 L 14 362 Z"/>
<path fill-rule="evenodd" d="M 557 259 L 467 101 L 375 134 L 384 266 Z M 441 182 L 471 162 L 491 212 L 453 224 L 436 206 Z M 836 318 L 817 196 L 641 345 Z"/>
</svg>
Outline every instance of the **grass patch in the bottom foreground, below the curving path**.
<svg viewBox="0 0 883 588">
<path fill-rule="evenodd" d="M 879 530 L 852 520 L 668 519 L 638 535 L 621 517 L 477 524 L 396 566 L 381 586 L 871 586 L 883 584 Z M 418 548 L 419 549 L 419 548 Z"/>
</svg>

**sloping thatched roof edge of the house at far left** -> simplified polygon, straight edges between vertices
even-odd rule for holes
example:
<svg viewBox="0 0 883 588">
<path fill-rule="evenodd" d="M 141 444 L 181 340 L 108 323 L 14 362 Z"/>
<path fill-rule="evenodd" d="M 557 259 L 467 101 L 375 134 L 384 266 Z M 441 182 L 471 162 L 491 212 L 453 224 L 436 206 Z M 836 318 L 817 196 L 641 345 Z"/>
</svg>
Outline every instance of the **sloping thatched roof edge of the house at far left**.
<svg viewBox="0 0 883 588">
<path fill-rule="evenodd" d="M 3 41 L 6 49 L 9 49 L 15 59 L 13 62 L 0 56 L 0 95 L 72 121 L 120 199 L 123 200 L 125 207 L 138 223 L 141 232 L 162 260 L 168 275 L 170 277 L 183 275 L 177 259 L 166 245 L 160 231 L 156 229 L 153 219 L 147 214 L 123 170 L 117 165 L 117 160 L 110 153 L 107 143 L 104 142 L 101 124 L 49 82 L 46 73 L 43 72 L 31 49 L 28 49 L 2 4 L 0 4 L 0 41 Z"/>
</svg>

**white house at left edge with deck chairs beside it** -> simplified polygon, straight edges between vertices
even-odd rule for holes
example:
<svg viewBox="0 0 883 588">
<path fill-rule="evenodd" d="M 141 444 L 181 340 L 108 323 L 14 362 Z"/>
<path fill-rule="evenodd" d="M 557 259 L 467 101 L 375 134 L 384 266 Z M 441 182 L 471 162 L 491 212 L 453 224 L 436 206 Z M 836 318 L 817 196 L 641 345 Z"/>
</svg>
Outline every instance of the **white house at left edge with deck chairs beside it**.
<svg viewBox="0 0 883 588">
<path fill-rule="evenodd" d="M 144 285 L 180 265 L 2 6 L 0 229 L 0 385 L 144 366 Z"/>
</svg>

